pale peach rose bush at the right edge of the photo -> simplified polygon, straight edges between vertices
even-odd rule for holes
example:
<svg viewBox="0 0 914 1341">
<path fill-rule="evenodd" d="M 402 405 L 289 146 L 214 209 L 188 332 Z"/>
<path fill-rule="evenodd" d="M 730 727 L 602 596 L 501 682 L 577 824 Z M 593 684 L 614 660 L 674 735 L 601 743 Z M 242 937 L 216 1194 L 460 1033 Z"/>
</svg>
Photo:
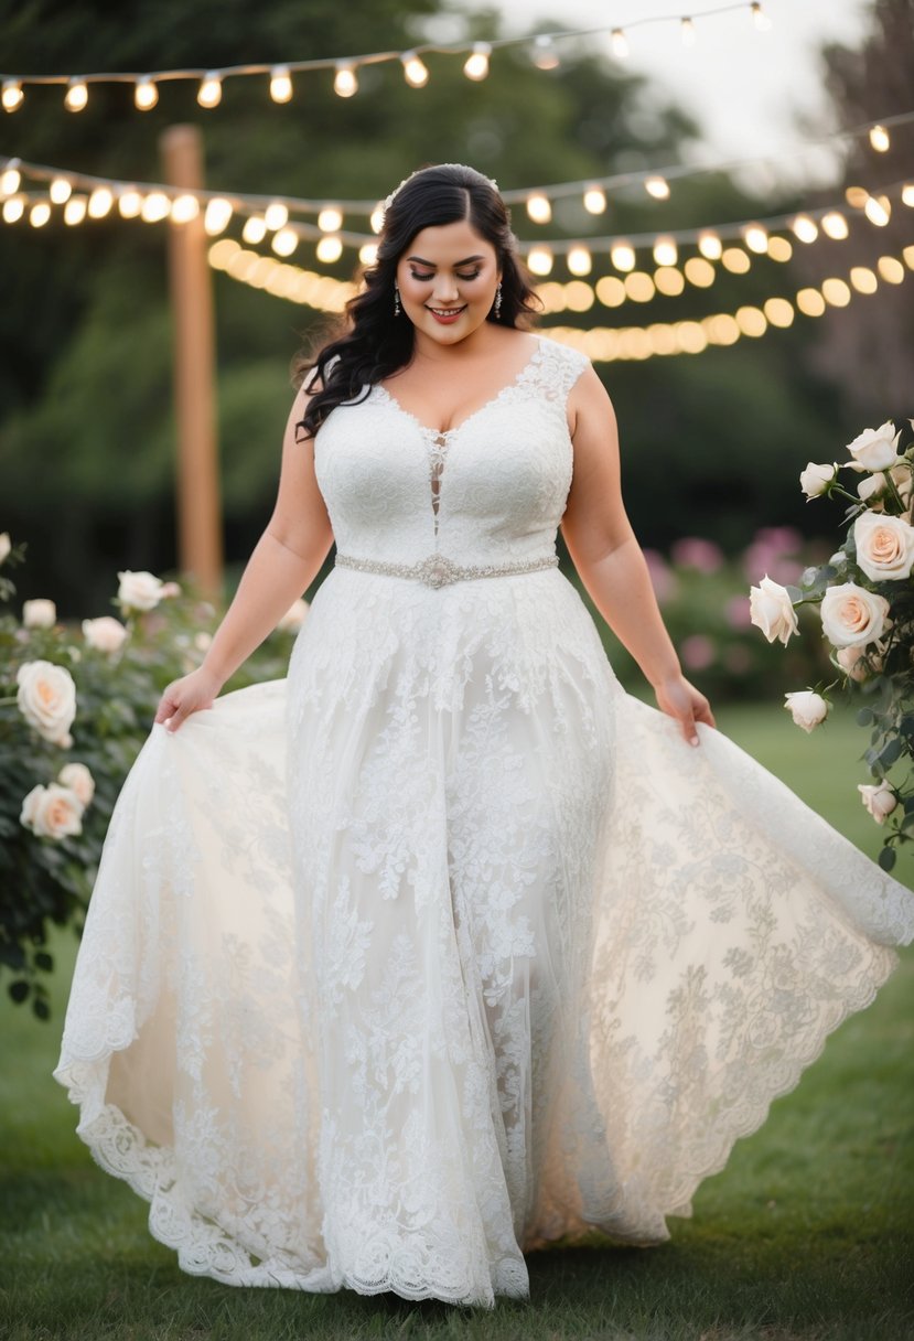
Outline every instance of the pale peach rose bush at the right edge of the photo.
<svg viewBox="0 0 914 1341">
<path fill-rule="evenodd" d="M 876 779 L 858 790 L 876 823 L 891 817 L 879 853 L 879 865 L 891 870 L 899 845 L 914 838 L 914 420 L 864 429 L 848 444 L 847 456 L 832 465 L 809 461 L 800 473 L 807 499 L 836 496 L 850 503 L 844 542 L 826 563 L 808 567 L 799 585 L 777 591 L 771 583 L 753 587 L 753 624 L 772 642 L 788 626 L 787 602 L 793 611 L 819 609 L 838 679 L 787 695 L 787 707 L 799 725 L 812 731 L 826 719 L 830 692 L 843 689 L 848 701 L 858 703 L 856 720 L 871 732 L 863 760 Z M 864 476 L 855 493 L 839 481 L 844 469 Z M 772 609 L 779 611 L 776 621 Z"/>
</svg>

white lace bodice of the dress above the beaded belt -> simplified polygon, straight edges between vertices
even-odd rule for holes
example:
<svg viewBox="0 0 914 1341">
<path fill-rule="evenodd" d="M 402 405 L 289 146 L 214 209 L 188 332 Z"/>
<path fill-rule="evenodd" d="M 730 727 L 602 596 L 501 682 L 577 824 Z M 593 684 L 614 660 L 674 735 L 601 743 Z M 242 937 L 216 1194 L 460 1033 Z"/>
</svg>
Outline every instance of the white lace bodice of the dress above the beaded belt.
<svg viewBox="0 0 914 1341">
<path fill-rule="evenodd" d="M 465 565 L 551 554 L 572 473 L 566 402 L 586 366 L 583 354 L 537 337 L 517 377 L 444 433 L 382 386 L 340 405 L 315 441 L 339 551 Z"/>
</svg>

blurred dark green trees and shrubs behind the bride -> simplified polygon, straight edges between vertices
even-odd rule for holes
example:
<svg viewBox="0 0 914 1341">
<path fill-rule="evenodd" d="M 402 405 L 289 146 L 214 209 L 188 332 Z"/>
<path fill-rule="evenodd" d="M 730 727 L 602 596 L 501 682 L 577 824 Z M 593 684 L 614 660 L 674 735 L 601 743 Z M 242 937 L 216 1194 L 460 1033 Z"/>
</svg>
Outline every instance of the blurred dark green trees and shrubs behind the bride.
<svg viewBox="0 0 914 1341">
<path fill-rule="evenodd" d="M 122 0 L 113 20 L 102 0 L 78 7 L 1 0 L 0 21 L 5 67 L 42 74 L 402 50 L 422 40 L 445 11 L 437 0 L 255 7 Z M 461 8 L 453 16 L 468 39 L 499 34 L 493 11 Z M 560 12 L 540 24 L 562 27 Z M 544 72 L 531 63 L 528 47 L 508 47 L 481 83 L 465 79 L 453 56 L 429 56 L 432 78 L 421 93 L 405 84 L 398 62 L 366 67 L 350 99 L 334 95 L 326 72 L 302 76 L 283 107 L 268 101 L 261 80 L 236 79 L 209 113 L 197 106 L 194 84 L 165 86 L 146 114 L 134 110 L 129 86 L 98 86 L 79 115 L 63 110 L 59 87 L 32 87 L 27 107 L 4 118 L 4 149 L 48 165 L 155 181 L 161 133 L 190 122 L 202 129 L 213 189 L 361 198 L 383 197 L 429 161 L 469 161 L 511 189 L 682 160 L 698 127 L 667 87 L 614 63 L 602 40 L 563 43 L 562 55 L 560 66 Z M 828 129 L 910 110 L 910 4 L 878 0 L 863 47 L 823 50 L 820 70 L 832 107 Z M 872 154 L 866 139 L 848 142 L 843 180 L 777 198 L 746 194 L 724 172 L 700 174 L 675 185 L 663 217 L 673 227 L 694 227 L 812 208 L 840 198 L 850 184 L 875 186 L 910 173 L 910 134 L 898 134 L 887 154 Z M 720 270 L 708 291 L 658 295 L 625 310 L 564 312 L 544 327 L 649 325 L 761 303 L 899 252 L 910 241 L 910 223 L 899 215 L 907 211 L 897 211 L 887 228 L 854 225 L 847 241 L 796 247 L 787 264 L 759 257 L 746 275 Z M 657 205 L 647 200 L 621 197 L 599 219 L 568 202 L 556 212 L 553 231 L 637 232 L 655 229 L 657 220 Z M 521 236 L 535 232 L 523 211 L 515 211 L 515 225 Z M 0 229 L 0 523 L 28 543 L 19 598 L 51 597 L 64 617 L 101 614 L 115 570 L 170 574 L 176 565 L 165 225 L 114 215 L 79 228 L 20 223 Z M 351 253 L 326 268 L 351 278 Z M 771 688 L 784 677 L 796 687 L 789 680 L 796 668 L 787 666 L 780 649 L 760 648 L 757 632 L 746 634 L 737 598 L 761 575 L 752 558 L 759 546 L 767 546 L 768 571 L 780 561 L 797 569 L 823 547 L 834 548 L 840 508 L 804 503 L 797 476 L 805 463 L 835 459 L 867 424 L 911 413 L 910 283 L 880 284 L 875 296 L 855 296 L 822 319 L 800 318 L 728 349 L 599 365 L 619 417 L 635 530 L 654 552 L 657 571 L 673 575 L 665 587 L 667 617 L 677 634 L 698 637 L 686 660 L 709 689 L 757 696 L 768 676 Z M 221 272 L 213 272 L 213 284 L 231 587 L 272 506 L 292 394 L 289 361 L 326 318 Z M 688 561 L 688 544 L 681 548 L 686 562 L 677 562 L 677 543 L 693 538 L 712 542 L 710 569 Z M 706 628 L 709 618 L 717 633 Z M 622 668 L 627 673 L 625 658 Z M 804 679 L 812 673 L 801 669 Z"/>
</svg>

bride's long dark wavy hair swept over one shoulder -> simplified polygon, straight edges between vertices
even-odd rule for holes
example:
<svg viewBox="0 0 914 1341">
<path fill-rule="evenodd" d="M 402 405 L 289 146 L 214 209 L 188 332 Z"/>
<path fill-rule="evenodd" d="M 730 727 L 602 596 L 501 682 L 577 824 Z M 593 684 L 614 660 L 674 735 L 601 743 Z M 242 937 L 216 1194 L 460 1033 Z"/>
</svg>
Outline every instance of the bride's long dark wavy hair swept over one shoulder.
<svg viewBox="0 0 914 1341">
<path fill-rule="evenodd" d="M 371 386 L 405 367 L 413 357 L 413 323 L 394 316 L 397 263 L 417 233 L 466 220 L 495 247 L 501 271 L 501 311 L 488 320 L 527 329 L 540 307 L 529 274 L 517 253 L 511 215 L 488 177 L 461 164 L 421 168 L 397 190 L 385 213 L 375 263 L 346 304 L 342 330 L 324 337 L 315 354 L 300 351 L 292 365 L 293 385 L 320 389 L 296 425 L 314 437 L 343 401 L 358 401 Z M 308 375 L 311 374 L 311 375 Z"/>
</svg>

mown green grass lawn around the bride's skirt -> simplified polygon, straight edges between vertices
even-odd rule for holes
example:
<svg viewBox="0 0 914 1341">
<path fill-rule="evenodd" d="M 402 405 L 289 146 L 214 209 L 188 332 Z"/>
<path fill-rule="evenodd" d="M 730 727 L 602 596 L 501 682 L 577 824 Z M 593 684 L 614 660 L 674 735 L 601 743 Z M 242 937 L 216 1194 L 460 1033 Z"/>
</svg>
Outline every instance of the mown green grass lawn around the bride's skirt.
<svg viewBox="0 0 914 1341">
<path fill-rule="evenodd" d="M 847 717 L 807 736 L 777 705 L 720 725 L 871 856 Z M 914 857 L 898 874 L 911 882 Z M 361 1337 L 558 1341 L 899 1341 L 914 1337 L 914 953 L 830 1038 L 800 1085 L 698 1191 L 670 1243 L 594 1238 L 528 1258 L 532 1299 L 495 1311 L 434 1301 L 236 1290 L 178 1271 L 146 1207 L 102 1173 L 51 1080 L 72 945 L 50 1026 L 4 999 L 0 1019 L 0 1337 L 118 1341 L 348 1341 Z"/>
</svg>

